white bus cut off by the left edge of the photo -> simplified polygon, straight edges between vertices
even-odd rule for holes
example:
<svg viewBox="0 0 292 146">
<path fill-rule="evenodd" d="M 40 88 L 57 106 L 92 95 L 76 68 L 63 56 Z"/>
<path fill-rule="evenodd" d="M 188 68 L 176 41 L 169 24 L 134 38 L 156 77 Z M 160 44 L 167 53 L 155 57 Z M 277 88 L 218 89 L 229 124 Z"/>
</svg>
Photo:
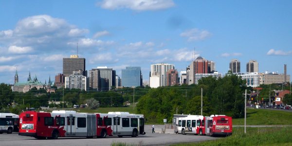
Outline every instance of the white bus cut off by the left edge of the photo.
<svg viewBox="0 0 292 146">
<path fill-rule="evenodd" d="M 0 133 L 11 134 L 18 131 L 19 116 L 13 113 L 0 113 Z"/>
</svg>

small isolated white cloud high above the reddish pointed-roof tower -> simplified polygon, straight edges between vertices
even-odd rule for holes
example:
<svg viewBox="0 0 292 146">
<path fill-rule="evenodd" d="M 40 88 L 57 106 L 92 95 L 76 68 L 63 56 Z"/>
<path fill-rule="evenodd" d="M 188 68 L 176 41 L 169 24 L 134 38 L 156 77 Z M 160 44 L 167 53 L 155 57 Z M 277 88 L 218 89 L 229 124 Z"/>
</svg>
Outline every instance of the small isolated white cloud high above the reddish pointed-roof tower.
<svg viewBox="0 0 292 146">
<path fill-rule="evenodd" d="M 199 30 L 197 28 L 193 28 L 190 30 L 186 30 L 180 34 L 181 37 L 187 37 L 187 41 L 199 41 L 211 37 L 212 34 L 206 30 Z"/>
</svg>

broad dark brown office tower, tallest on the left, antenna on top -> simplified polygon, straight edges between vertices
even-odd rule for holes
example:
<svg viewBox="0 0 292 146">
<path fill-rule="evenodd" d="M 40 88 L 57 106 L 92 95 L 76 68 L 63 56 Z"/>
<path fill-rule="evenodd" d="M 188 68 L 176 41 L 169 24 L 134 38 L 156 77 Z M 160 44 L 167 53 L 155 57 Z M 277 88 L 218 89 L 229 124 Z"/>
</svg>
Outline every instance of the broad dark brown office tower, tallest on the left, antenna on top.
<svg viewBox="0 0 292 146">
<path fill-rule="evenodd" d="M 78 55 L 70 55 L 70 58 L 63 58 L 64 76 L 71 75 L 73 71 L 83 71 L 82 75 L 87 76 L 85 58 L 78 58 Z"/>
</svg>

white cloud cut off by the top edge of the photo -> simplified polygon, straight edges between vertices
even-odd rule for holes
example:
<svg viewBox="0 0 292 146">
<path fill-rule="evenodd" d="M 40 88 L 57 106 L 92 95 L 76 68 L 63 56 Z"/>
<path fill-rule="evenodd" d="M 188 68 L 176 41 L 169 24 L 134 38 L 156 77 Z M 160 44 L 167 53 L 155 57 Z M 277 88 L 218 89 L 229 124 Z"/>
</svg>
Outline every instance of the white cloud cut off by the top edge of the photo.
<svg viewBox="0 0 292 146">
<path fill-rule="evenodd" d="M 103 0 L 98 3 L 104 9 L 131 9 L 135 11 L 160 10 L 173 7 L 172 0 Z"/>
</svg>

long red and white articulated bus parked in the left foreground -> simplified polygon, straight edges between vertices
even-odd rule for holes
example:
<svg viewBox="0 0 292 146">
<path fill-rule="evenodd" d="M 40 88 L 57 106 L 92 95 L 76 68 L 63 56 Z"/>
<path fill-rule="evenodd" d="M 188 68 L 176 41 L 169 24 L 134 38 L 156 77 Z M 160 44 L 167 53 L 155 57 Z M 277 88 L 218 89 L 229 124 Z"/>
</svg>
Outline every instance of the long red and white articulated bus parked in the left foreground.
<svg viewBox="0 0 292 146">
<path fill-rule="evenodd" d="M 132 136 L 144 132 L 144 115 L 128 112 L 77 113 L 73 110 L 26 111 L 20 114 L 18 135 L 37 139 L 58 137 Z"/>
</svg>

